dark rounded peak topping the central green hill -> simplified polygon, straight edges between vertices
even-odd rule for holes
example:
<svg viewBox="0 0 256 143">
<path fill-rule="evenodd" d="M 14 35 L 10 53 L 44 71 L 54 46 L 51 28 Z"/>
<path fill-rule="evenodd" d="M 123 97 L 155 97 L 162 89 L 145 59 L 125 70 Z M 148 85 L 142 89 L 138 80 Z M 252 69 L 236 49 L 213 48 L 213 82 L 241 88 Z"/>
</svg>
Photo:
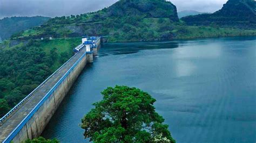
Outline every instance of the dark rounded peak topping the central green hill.
<svg viewBox="0 0 256 143">
<path fill-rule="evenodd" d="M 142 16 L 147 18 L 170 18 L 177 22 L 177 8 L 165 0 L 120 0 L 106 10 L 107 17 Z"/>
</svg>

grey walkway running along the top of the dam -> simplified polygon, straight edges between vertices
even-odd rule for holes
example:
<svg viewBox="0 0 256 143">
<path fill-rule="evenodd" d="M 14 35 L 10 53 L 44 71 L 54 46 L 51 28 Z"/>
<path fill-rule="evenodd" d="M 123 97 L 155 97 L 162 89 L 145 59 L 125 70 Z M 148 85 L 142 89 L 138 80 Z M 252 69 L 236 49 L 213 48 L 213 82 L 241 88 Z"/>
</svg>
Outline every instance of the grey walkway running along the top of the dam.
<svg viewBox="0 0 256 143">
<path fill-rule="evenodd" d="M 86 54 L 86 49 L 82 49 L 76 53 L 72 58 L 64 63 L 62 67 L 53 73 L 48 80 L 46 80 L 41 87 L 39 86 L 36 91 L 33 91 L 33 95 L 29 97 L 26 102 L 22 103 L 14 112 L 10 113 L 9 117 L 1 121 L 0 125 L 0 142 L 6 141 L 6 138 L 13 139 L 20 130 L 26 124 L 31 117 L 31 114 L 36 112 L 36 106 L 43 100 L 43 98 L 55 87 L 57 82 L 67 73 L 69 70 L 79 61 L 82 56 Z M 55 101 L 54 101 L 55 102 Z M 56 105 L 55 105 L 56 106 Z M 56 108 L 56 107 L 55 107 Z M 38 109 L 37 109 L 38 110 Z M 56 110 L 56 109 L 55 109 Z M 38 119 L 44 121 L 43 119 Z M 26 131 L 28 134 L 28 131 Z M 11 137 L 14 136 L 14 137 Z M 29 135 L 28 135 L 29 136 Z"/>
</svg>

